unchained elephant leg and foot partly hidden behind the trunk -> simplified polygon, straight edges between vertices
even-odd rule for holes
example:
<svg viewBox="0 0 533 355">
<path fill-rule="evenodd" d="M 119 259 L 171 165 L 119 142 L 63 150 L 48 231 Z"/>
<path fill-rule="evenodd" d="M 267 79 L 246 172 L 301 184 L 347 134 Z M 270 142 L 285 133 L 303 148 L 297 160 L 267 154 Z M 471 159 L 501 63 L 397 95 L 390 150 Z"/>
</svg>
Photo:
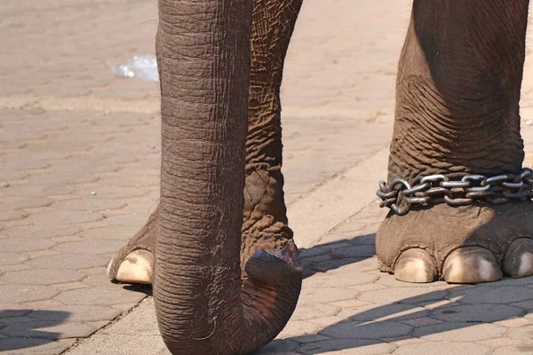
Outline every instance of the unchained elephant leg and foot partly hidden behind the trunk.
<svg viewBox="0 0 533 355">
<path fill-rule="evenodd" d="M 280 86 L 283 62 L 302 0 L 255 0 L 246 139 L 241 266 L 259 249 L 293 244 L 283 199 Z M 158 45 L 156 44 L 156 51 Z M 161 75 L 160 75 L 161 76 Z M 151 283 L 157 210 L 107 266 L 111 279 Z M 245 275 L 243 275 L 243 278 Z"/>
</svg>

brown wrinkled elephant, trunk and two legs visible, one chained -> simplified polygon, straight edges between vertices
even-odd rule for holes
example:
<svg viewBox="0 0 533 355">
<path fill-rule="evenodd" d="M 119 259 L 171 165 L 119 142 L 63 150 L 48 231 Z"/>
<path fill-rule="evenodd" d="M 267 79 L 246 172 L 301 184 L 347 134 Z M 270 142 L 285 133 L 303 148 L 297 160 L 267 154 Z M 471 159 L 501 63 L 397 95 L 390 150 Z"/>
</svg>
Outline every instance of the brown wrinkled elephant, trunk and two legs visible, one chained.
<svg viewBox="0 0 533 355">
<path fill-rule="evenodd" d="M 107 275 L 154 284 L 172 353 L 255 351 L 298 302 L 303 270 L 283 198 L 280 87 L 301 5 L 159 0 L 161 199 Z M 513 190 L 531 180 L 521 167 L 519 112 L 528 9 L 529 0 L 413 1 L 380 187 L 393 209 L 376 237 L 379 268 L 398 280 L 533 274 L 531 188 Z M 465 178 L 481 182 L 466 191 Z M 461 186 L 466 198 L 455 198 Z M 421 202 L 402 202 L 408 192 Z"/>
</svg>

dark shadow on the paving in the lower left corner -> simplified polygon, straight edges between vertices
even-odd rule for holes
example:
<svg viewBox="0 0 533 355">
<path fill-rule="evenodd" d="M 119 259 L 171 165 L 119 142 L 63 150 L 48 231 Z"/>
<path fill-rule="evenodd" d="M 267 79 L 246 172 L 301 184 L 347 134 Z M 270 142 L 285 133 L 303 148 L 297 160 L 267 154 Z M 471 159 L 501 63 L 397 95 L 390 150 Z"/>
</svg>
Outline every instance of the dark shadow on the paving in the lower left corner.
<svg viewBox="0 0 533 355">
<path fill-rule="evenodd" d="M 0 311 L 0 334 L 7 336 L 0 337 L 0 352 L 28 349 L 60 339 L 62 333 L 54 331 L 54 327 L 69 317 L 70 312 L 61 311 Z"/>
</svg>

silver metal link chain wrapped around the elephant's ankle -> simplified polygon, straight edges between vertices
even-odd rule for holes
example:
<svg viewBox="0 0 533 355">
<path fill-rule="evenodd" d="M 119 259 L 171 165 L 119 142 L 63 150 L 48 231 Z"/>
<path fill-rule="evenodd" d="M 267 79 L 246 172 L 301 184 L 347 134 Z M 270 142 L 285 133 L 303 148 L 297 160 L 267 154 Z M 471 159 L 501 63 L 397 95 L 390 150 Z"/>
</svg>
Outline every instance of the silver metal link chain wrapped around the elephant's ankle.
<svg viewBox="0 0 533 355">
<path fill-rule="evenodd" d="M 379 207 L 392 209 L 397 215 L 406 215 L 414 206 L 448 203 L 465 206 L 474 201 L 501 204 L 533 198 L 533 170 L 524 168 L 520 175 L 505 174 L 496 177 L 465 175 L 451 179 L 444 175 L 422 177 L 417 185 L 402 178 L 390 184 L 379 181 Z"/>
</svg>

